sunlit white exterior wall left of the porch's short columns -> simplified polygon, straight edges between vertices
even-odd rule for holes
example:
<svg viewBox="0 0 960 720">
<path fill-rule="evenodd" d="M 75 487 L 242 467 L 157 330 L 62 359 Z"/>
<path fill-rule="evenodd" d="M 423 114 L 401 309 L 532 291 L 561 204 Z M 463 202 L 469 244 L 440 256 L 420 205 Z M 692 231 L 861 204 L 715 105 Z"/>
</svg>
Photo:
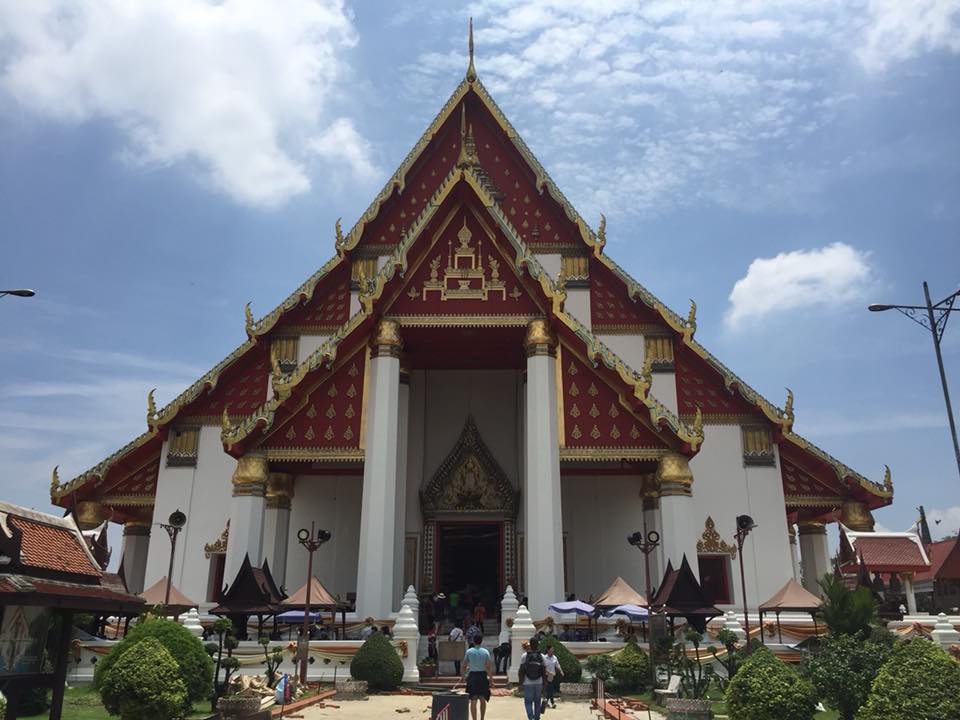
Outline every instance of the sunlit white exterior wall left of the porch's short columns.
<svg viewBox="0 0 960 720">
<path fill-rule="evenodd" d="M 232 499 L 230 480 L 237 461 L 223 451 L 220 428 L 212 426 L 200 428 L 196 467 L 167 467 L 166 458 L 165 441 L 160 455 L 145 587 L 167 574 L 170 541 L 157 525 L 166 522 L 170 513 L 179 508 L 187 515 L 187 525 L 177 538 L 173 584 L 191 600 L 203 602 L 210 570 L 203 546 L 216 540 L 227 524 Z M 225 578 L 225 582 L 230 580 Z"/>
</svg>

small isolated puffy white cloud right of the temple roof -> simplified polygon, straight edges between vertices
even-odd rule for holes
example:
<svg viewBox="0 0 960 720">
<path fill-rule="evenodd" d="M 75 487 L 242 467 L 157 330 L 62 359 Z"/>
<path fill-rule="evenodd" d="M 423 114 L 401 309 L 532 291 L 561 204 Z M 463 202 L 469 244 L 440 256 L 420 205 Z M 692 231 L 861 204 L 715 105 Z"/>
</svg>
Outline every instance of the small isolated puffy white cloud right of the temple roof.
<svg viewBox="0 0 960 720">
<path fill-rule="evenodd" d="M 867 254 L 840 242 L 757 258 L 733 286 L 724 322 L 736 330 L 771 313 L 848 303 L 870 279 Z"/>
</svg>

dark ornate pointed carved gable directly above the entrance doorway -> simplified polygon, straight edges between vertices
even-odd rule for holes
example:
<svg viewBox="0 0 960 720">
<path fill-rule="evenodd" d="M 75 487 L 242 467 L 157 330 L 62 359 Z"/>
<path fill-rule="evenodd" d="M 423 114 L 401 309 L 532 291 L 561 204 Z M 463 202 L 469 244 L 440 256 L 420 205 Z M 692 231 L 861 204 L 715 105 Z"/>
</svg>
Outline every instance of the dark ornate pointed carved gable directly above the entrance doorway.
<svg viewBox="0 0 960 720">
<path fill-rule="evenodd" d="M 513 489 L 469 416 L 457 444 L 420 493 L 420 507 L 427 518 L 443 513 L 491 513 L 515 518 L 519 498 L 520 493 Z"/>
</svg>

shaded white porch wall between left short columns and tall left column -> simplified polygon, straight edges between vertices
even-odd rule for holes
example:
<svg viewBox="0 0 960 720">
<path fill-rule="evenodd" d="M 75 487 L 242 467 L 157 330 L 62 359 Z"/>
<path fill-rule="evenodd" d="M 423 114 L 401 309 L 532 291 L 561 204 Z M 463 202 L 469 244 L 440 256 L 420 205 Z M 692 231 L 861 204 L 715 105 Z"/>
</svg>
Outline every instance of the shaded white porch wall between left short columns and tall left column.
<svg viewBox="0 0 960 720">
<path fill-rule="evenodd" d="M 307 551 L 297 540 L 297 531 L 309 529 L 313 521 L 318 529 L 331 533 L 330 541 L 313 555 L 313 574 L 334 595 L 345 598 L 347 593 L 356 592 L 363 478 L 298 475 L 293 491 L 287 575 L 283 584 L 289 592 L 294 592 L 307 581 Z M 280 583 L 279 578 L 277 582 Z"/>
</svg>

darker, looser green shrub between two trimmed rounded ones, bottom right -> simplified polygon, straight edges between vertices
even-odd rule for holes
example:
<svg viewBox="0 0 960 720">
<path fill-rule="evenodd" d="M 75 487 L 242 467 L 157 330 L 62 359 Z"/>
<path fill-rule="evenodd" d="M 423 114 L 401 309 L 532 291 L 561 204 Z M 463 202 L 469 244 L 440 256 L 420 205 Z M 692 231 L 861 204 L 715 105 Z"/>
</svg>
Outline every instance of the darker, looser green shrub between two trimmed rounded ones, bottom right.
<svg viewBox="0 0 960 720">
<path fill-rule="evenodd" d="M 842 720 L 853 720 L 890 652 L 890 643 L 875 637 L 829 635 L 804 659 L 803 674 L 824 704 L 836 709 Z"/>
</svg>

